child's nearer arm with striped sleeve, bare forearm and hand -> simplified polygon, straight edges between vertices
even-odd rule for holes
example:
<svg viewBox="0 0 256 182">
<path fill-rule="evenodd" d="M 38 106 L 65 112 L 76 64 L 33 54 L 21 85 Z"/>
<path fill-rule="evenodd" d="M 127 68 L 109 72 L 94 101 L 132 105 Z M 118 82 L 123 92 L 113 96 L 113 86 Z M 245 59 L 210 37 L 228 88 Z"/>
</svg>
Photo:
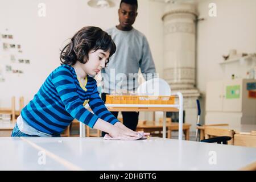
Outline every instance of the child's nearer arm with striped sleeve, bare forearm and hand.
<svg viewBox="0 0 256 182">
<path fill-rule="evenodd" d="M 99 118 L 96 114 L 90 113 L 82 105 L 83 102 L 77 94 L 75 80 L 68 70 L 61 70 L 52 75 L 52 83 L 55 86 L 65 109 L 73 118 L 85 123 L 89 127 L 105 131 L 112 137 L 136 137 L 137 133 L 124 131 L 109 122 Z"/>
</svg>

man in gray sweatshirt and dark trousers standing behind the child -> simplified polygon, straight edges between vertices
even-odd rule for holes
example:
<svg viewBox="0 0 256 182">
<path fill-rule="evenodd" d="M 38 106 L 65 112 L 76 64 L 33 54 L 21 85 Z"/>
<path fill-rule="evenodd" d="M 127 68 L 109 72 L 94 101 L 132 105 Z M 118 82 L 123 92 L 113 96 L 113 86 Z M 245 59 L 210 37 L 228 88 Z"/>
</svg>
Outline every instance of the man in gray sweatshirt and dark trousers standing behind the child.
<svg viewBox="0 0 256 182">
<path fill-rule="evenodd" d="M 118 10 L 119 24 L 106 32 L 112 36 L 117 51 L 110 58 L 107 68 L 103 68 L 101 76 L 103 80 L 102 100 L 106 100 L 106 94 L 113 94 L 118 90 L 135 91 L 138 88 L 138 72 L 146 75 L 155 73 L 155 64 L 152 59 L 150 47 L 146 37 L 132 25 L 138 15 L 137 0 L 122 0 Z M 134 76 L 135 75 L 135 76 Z M 118 112 L 112 112 L 117 118 Z M 122 111 L 123 125 L 131 130 L 136 130 L 139 120 L 139 112 Z M 102 133 L 104 137 L 105 133 Z"/>
</svg>

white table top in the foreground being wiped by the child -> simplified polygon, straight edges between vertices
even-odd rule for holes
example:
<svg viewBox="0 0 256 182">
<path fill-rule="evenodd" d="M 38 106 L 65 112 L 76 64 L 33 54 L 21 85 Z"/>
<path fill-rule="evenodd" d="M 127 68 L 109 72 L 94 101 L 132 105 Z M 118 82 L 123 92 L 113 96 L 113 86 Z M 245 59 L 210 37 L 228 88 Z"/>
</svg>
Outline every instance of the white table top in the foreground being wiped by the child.
<svg viewBox="0 0 256 182">
<path fill-rule="evenodd" d="M 256 162 L 256 148 L 154 137 L 135 141 L 9 137 L 0 138 L 0 148 L 2 170 L 237 170 Z M 42 149 L 46 165 L 38 164 Z M 216 164 L 209 163 L 210 151 L 216 154 Z"/>
</svg>

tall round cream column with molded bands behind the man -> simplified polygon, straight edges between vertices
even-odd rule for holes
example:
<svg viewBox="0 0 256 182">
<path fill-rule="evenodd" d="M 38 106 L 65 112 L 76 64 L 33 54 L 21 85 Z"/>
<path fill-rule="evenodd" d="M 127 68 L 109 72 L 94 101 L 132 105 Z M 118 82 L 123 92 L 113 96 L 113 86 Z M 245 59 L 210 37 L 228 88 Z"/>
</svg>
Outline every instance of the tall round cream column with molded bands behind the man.
<svg viewBox="0 0 256 182">
<path fill-rule="evenodd" d="M 193 3 L 169 3 L 162 16 L 164 79 L 184 97 L 185 122 L 196 129 L 196 10 Z"/>
</svg>

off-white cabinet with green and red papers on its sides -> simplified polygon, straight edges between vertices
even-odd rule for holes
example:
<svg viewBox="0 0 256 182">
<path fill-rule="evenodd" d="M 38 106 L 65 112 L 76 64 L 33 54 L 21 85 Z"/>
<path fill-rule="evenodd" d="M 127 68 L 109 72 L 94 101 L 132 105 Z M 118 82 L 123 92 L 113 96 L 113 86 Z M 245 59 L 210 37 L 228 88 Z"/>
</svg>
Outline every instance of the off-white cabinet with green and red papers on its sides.
<svg viewBox="0 0 256 182">
<path fill-rule="evenodd" d="M 256 124 L 255 85 L 249 79 L 208 82 L 205 123 Z"/>
</svg>

